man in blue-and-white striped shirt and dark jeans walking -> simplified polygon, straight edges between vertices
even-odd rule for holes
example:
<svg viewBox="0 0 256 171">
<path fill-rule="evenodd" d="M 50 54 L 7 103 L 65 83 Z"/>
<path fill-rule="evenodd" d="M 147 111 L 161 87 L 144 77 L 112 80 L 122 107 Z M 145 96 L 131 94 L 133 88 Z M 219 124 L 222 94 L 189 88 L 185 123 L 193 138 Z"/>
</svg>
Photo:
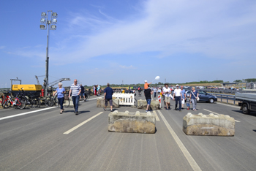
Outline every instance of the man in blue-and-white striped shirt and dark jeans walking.
<svg viewBox="0 0 256 171">
<path fill-rule="evenodd" d="M 75 111 L 74 111 L 75 115 L 78 115 L 78 104 L 79 104 L 80 93 L 81 93 L 81 87 L 78 84 L 78 80 L 75 79 L 74 83 L 71 85 L 70 91 L 69 91 L 69 97 L 72 94 L 72 101 L 73 101 L 74 108 L 75 108 Z"/>
</svg>

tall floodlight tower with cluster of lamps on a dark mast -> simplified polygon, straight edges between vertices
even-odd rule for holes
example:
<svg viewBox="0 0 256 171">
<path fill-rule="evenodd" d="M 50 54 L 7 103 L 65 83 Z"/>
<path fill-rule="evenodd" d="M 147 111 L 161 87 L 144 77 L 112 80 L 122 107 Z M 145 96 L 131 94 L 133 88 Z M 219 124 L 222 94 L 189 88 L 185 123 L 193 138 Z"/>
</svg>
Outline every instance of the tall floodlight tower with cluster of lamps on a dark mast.
<svg viewBox="0 0 256 171">
<path fill-rule="evenodd" d="M 50 16 L 50 20 L 48 20 L 48 17 Z M 57 26 L 57 17 L 58 14 L 56 12 L 53 12 L 52 10 L 48 10 L 47 14 L 46 12 L 42 12 L 41 14 L 41 30 L 48 29 L 47 34 L 47 46 L 46 46 L 46 60 L 45 60 L 45 79 L 44 79 L 44 86 L 45 86 L 45 97 L 48 95 L 48 68 L 49 68 L 49 56 L 48 56 L 48 45 L 49 45 L 49 30 L 56 30 Z"/>
</svg>

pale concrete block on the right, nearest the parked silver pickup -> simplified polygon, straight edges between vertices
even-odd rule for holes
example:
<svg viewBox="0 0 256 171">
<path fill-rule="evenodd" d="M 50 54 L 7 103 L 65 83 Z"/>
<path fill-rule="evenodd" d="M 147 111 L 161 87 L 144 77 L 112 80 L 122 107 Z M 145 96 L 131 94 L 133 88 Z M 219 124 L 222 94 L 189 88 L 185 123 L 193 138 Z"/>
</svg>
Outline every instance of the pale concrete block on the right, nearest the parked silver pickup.
<svg viewBox="0 0 256 171">
<path fill-rule="evenodd" d="M 229 115 L 192 115 L 183 118 L 183 131 L 192 135 L 234 136 L 235 119 Z"/>
</svg>

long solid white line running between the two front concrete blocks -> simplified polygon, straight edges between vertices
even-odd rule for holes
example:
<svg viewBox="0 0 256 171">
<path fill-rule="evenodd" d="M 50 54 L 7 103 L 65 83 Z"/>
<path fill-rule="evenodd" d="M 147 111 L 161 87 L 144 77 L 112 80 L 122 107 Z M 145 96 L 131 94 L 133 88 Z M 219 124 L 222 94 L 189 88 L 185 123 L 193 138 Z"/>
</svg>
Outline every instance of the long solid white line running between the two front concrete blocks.
<svg viewBox="0 0 256 171">
<path fill-rule="evenodd" d="M 181 149 L 181 151 L 184 154 L 184 156 L 186 157 L 187 161 L 189 161 L 189 164 L 192 167 L 192 169 L 193 170 L 201 170 L 200 167 L 198 166 L 197 162 L 195 161 L 195 159 L 193 159 L 193 157 L 191 156 L 189 151 L 187 151 L 187 148 L 184 146 L 184 144 L 178 138 L 177 134 L 173 131 L 172 127 L 170 127 L 170 124 L 166 121 L 165 116 L 162 115 L 160 110 L 157 110 L 157 111 L 158 111 L 159 115 L 161 116 L 162 121 L 165 122 L 167 129 L 169 129 L 170 134 L 172 134 L 174 140 L 178 144 L 178 147 Z"/>
</svg>

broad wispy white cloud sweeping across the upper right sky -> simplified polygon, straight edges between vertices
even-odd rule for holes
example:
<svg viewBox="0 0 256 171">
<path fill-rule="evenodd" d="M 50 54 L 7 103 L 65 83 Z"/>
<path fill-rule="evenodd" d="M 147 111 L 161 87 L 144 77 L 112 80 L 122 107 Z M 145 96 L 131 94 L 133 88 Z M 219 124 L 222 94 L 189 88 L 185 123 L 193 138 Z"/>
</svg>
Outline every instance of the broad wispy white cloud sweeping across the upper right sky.
<svg viewBox="0 0 256 171">
<path fill-rule="evenodd" d="M 158 57 L 173 53 L 203 53 L 214 58 L 238 58 L 244 53 L 256 53 L 256 10 L 250 4 L 243 9 L 240 1 L 146 1 L 143 18 L 120 22 L 105 18 L 78 15 L 71 22 L 97 28 L 97 34 L 87 35 L 76 45 L 72 56 L 84 60 L 94 56 L 118 53 L 159 52 Z M 241 9 L 237 14 L 236 8 Z M 67 52 L 62 58 L 70 56 Z M 58 54 L 56 54 L 56 58 Z"/>
</svg>

